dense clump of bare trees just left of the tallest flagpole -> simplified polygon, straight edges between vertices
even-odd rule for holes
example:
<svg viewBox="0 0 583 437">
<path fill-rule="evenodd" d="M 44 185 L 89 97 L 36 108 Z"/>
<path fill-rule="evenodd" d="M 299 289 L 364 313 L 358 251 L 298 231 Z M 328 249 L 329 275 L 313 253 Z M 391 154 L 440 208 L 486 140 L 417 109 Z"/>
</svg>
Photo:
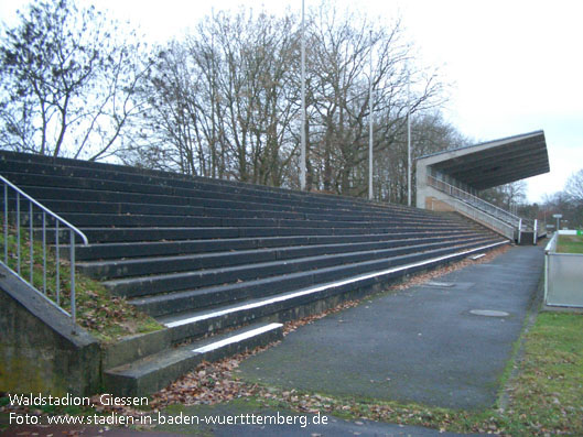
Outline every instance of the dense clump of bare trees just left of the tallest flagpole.
<svg viewBox="0 0 583 437">
<path fill-rule="evenodd" d="M 291 18 L 239 12 L 203 21 L 159 51 L 143 88 L 153 134 L 133 150 L 166 150 L 187 174 L 281 185 L 298 111 L 289 68 L 295 43 Z"/>
</svg>

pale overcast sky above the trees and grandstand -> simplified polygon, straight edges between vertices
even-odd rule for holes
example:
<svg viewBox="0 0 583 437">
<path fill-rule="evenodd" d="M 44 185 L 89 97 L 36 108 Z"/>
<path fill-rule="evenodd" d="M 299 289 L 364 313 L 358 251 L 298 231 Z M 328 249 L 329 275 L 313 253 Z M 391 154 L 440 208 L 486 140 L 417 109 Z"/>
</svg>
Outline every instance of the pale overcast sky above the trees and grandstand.
<svg viewBox="0 0 583 437">
<path fill-rule="evenodd" d="M 205 14 L 239 6 L 301 11 L 301 0 L 82 0 L 139 24 L 151 42 L 180 36 Z M 25 0 L 0 0 L 11 22 Z M 306 8 L 320 0 L 305 0 Z M 583 1 L 336 0 L 387 25 L 398 17 L 424 65 L 453 84 L 447 120 L 478 141 L 544 130 L 551 173 L 528 179 L 530 201 L 583 168 Z"/>
</svg>

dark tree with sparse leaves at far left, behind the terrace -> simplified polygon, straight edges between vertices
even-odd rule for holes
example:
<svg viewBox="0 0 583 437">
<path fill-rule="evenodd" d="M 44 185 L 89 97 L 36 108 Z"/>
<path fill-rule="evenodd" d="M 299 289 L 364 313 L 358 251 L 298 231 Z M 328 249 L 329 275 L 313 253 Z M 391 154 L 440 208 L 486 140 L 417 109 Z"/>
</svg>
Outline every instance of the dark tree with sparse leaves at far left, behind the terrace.
<svg viewBox="0 0 583 437">
<path fill-rule="evenodd" d="M 0 43 L 0 146 L 97 160 L 112 153 L 147 70 L 93 7 L 35 1 Z"/>
</svg>

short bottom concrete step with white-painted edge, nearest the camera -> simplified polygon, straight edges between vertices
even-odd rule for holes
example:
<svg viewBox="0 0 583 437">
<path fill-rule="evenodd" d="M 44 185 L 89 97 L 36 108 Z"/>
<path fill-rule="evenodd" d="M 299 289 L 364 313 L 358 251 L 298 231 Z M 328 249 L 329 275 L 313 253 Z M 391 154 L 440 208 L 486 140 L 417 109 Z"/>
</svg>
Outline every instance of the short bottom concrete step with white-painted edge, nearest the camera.
<svg viewBox="0 0 583 437">
<path fill-rule="evenodd" d="M 165 387 L 203 361 L 216 361 L 282 338 L 282 324 L 247 326 L 108 369 L 104 373 L 105 387 L 119 396 L 147 395 Z"/>
</svg>

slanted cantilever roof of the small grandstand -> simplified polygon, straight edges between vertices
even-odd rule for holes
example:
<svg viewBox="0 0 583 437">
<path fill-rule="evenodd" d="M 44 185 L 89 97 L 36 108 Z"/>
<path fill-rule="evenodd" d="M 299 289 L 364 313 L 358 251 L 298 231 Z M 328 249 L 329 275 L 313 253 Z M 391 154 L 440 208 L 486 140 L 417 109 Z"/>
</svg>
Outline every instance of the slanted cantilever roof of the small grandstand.
<svg viewBox="0 0 583 437">
<path fill-rule="evenodd" d="M 550 171 L 543 131 L 425 155 L 418 165 L 431 166 L 478 190 Z"/>
</svg>

